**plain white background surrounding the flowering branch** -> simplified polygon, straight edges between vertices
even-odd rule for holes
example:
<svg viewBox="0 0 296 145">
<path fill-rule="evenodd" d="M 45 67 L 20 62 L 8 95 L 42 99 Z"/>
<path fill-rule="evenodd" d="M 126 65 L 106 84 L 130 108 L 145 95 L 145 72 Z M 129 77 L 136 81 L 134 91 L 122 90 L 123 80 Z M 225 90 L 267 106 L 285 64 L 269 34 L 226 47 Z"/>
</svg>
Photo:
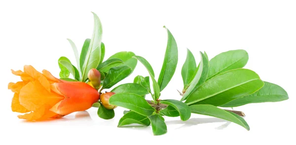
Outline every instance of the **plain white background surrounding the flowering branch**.
<svg viewBox="0 0 296 145">
<path fill-rule="evenodd" d="M 13 93 L 7 84 L 20 78 L 10 69 L 22 70 L 23 65 L 31 64 L 58 77 L 59 57 L 66 56 L 75 64 L 66 38 L 81 49 L 84 39 L 91 37 L 91 11 L 103 24 L 106 58 L 132 51 L 148 59 L 156 76 L 167 42 L 162 27 L 171 30 L 179 48 L 179 63 L 162 99 L 180 99 L 176 89 L 183 87 L 181 68 L 186 48 L 197 60 L 199 51 L 213 58 L 224 51 L 245 49 L 249 53 L 245 68 L 285 88 L 290 99 L 235 108 L 247 115 L 250 131 L 222 119 L 193 115 L 185 122 L 166 117 L 168 133 L 153 136 L 150 127 L 117 128 L 124 110 L 119 107 L 111 120 L 99 118 L 95 108 L 54 121 L 18 119 L 10 109 Z M 295 0 L 1 0 L 0 145 L 296 145 L 295 49 Z M 148 76 L 140 63 L 120 83 L 132 82 L 137 75 Z"/>
</svg>

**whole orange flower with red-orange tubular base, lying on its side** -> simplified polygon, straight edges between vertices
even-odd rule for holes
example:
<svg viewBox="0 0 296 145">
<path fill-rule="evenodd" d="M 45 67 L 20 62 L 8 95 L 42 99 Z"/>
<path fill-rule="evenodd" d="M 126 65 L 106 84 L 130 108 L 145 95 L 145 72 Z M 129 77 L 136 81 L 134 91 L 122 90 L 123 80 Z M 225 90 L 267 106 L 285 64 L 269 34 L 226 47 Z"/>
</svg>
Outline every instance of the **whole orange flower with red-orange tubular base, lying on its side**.
<svg viewBox="0 0 296 145">
<path fill-rule="evenodd" d="M 47 70 L 38 72 L 31 65 L 25 65 L 24 72 L 11 71 L 23 80 L 8 84 L 8 89 L 14 92 L 12 111 L 28 113 L 19 115 L 21 119 L 43 120 L 84 111 L 100 97 L 100 93 L 86 83 L 60 80 Z"/>
</svg>

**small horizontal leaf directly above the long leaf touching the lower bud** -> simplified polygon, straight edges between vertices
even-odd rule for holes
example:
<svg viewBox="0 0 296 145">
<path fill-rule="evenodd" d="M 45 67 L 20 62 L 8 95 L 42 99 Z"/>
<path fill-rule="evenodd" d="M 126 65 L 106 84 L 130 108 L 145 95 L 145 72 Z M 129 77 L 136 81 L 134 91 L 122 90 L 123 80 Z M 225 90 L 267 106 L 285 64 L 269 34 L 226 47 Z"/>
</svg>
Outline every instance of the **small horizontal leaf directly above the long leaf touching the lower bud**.
<svg viewBox="0 0 296 145">
<path fill-rule="evenodd" d="M 138 94 L 140 96 L 146 95 L 149 93 L 145 87 L 136 83 L 127 83 L 127 84 L 119 85 L 113 88 L 111 92 L 114 92 L 114 93 L 129 92 L 129 93 Z"/>
</svg>

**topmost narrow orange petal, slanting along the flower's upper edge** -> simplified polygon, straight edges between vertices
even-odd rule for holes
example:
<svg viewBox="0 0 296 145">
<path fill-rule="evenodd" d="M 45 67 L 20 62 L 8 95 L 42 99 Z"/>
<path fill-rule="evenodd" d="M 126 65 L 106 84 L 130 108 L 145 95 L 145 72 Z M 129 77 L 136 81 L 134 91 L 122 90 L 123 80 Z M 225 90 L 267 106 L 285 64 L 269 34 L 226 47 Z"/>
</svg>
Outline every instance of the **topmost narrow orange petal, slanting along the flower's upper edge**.
<svg viewBox="0 0 296 145">
<path fill-rule="evenodd" d="M 43 76 L 40 72 L 38 72 L 33 66 L 25 65 L 24 72 L 31 76 L 32 78 L 39 81 L 39 83 L 47 90 L 50 91 L 49 82 L 46 77 Z"/>
</svg>

